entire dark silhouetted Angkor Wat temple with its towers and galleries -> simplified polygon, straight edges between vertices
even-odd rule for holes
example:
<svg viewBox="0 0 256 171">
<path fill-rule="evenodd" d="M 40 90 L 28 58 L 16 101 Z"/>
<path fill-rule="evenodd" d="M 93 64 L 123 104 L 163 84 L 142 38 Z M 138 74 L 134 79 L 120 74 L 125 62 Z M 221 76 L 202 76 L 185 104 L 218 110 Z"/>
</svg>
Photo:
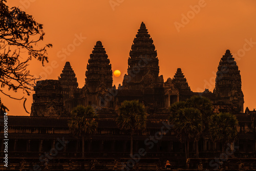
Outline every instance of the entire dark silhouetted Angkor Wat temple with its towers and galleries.
<svg viewBox="0 0 256 171">
<path fill-rule="evenodd" d="M 139 170 L 161 170 L 166 160 L 170 160 L 172 168 L 184 169 L 189 165 L 191 169 L 214 169 L 212 160 L 218 163 L 216 158 L 220 157 L 221 143 L 201 139 L 200 158 L 195 159 L 195 143 L 190 142 L 191 158 L 186 161 L 184 145 L 178 141 L 174 130 L 151 149 L 144 142 L 160 131 L 172 103 L 199 95 L 211 100 L 215 112 L 230 112 L 239 121 L 238 140 L 231 144 L 232 154 L 219 163 L 219 168 L 256 170 L 256 111 L 246 108 L 244 112 L 241 75 L 229 50 L 220 57 L 213 92 L 207 89 L 191 91 L 180 68 L 173 78 L 164 81 L 163 75 L 159 76 L 155 45 L 144 23 L 134 38 L 127 74 L 118 88 L 113 86 L 110 59 L 101 41 L 97 41 L 88 60 L 86 84 L 82 88 L 78 88 L 76 75 L 68 61 L 58 79 L 36 82 L 31 115 L 8 116 L 8 169 L 32 170 L 38 165 L 42 170 L 121 170 L 122 163 L 130 159 L 130 135 L 119 131 L 115 118 L 122 101 L 133 99 L 142 102 L 148 113 L 146 130 L 134 136 L 134 153 L 140 148 L 146 151 L 138 162 Z M 81 158 L 81 139 L 71 134 L 67 124 L 77 105 L 92 105 L 99 116 L 97 134 L 85 144 L 86 158 Z M 3 132 L 1 126 L 1 136 Z M 59 142 L 63 146 L 54 156 L 51 149 Z M 1 155 L 4 155 L 3 143 L 4 140 Z M 0 169 L 6 169 L 3 165 L 1 163 Z"/>
</svg>

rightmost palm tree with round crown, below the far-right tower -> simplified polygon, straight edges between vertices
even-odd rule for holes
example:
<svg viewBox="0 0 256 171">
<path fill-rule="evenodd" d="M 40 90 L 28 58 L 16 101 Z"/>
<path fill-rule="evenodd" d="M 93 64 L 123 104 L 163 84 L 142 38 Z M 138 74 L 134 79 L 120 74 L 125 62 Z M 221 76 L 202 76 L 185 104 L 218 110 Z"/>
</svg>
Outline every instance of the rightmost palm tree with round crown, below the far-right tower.
<svg viewBox="0 0 256 171">
<path fill-rule="evenodd" d="M 222 153 L 226 143 L 231 143 L 237 138 L 238 120 L 230 113 L 215 113 L 210 118 L 209 133 L 213 141 L 222 143 Z"/>
</svg>

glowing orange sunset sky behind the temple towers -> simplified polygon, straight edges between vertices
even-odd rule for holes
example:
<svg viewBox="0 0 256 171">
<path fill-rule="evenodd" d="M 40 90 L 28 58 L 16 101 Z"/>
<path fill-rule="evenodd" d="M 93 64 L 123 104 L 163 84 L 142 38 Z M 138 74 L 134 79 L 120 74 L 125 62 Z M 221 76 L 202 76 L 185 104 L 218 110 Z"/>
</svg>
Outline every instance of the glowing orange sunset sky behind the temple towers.
<svg viewBox="0 0 256 171">
<path fill-rule="evenodd" d="M 256 108 L 254 0 L 8 0 L 7 4 L 19 6 L 33 15 L 44 25 L 44 44 L 53 44 L 48 50 L 50 62 L 45 69 L 37 60 L 31 61 L 29 69 L 33 75 L 57 79 L 65 62 L 70 61 L 82 88 L 88 59 L 96 41 L 100 40 L 112 70 L 121 71 L 120 77 L 113 77 L 118 86 L 127 71 L 133 39 L 144 22 L 154 40 L 164 81 L 173 78 L 177 68 L 181 68 L 192 91 L 205 88 L 212 91 L 219 61 L 229 49 L 232 54 L 239 54 L 236 61 L 241 71 L 244 109 L 246 106 L 250 110 Z M 182 20 L 184 15 L 188 15 L 188 20 Z M 178 23 L 182 24 L 179 29 L 175 26 Z M 74 42 L 79 35 L 86 39 Z M 248 41 L 252 43 L 248 45 Z M 67 47 L 70 51 L 65 54 L 62 50 Z M 15 96 L 22 97 L 23 93 Z M 26 108 L 30 112 L 32 96 L 27 98 Z M 1 99 L 10 109 L 9 115 L 30 115 L 23 109 L 23 102 L 3 95 Z"/>
</svg>

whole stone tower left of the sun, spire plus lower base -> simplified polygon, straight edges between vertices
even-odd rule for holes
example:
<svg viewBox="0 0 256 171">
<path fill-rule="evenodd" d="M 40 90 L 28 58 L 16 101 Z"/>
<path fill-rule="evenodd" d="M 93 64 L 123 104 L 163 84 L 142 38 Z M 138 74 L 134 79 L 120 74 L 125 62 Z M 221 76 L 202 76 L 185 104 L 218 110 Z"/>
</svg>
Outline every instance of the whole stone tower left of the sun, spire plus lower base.
<svg viewBox="0 0 256 171">
<path fill-rule="evenodd" d="M 86 71 L 86 105 L 99 105 L 100 97 L 112 88 L 113 77 L 110 59 L 101 41 L 97 41 L 88 60 Z M 89 100 L 90 99 L 90 100 Z"/>
</svg>

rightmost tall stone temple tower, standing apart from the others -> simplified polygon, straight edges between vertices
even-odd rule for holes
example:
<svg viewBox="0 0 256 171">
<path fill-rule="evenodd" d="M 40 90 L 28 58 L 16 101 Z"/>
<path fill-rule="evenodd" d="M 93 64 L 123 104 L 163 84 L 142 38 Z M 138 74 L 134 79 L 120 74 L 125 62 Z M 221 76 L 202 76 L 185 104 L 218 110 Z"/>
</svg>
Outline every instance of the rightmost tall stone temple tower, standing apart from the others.
<svg viewBox="0 0 256 171">
<path fill-rule="evenodd" d="M 229 50 L 220 60 L 214 94 L 217 104 L 230 106 L 232 113 L 243 112 L 244 95 L 242 92 L 241 75 Z"/>
</svg>

